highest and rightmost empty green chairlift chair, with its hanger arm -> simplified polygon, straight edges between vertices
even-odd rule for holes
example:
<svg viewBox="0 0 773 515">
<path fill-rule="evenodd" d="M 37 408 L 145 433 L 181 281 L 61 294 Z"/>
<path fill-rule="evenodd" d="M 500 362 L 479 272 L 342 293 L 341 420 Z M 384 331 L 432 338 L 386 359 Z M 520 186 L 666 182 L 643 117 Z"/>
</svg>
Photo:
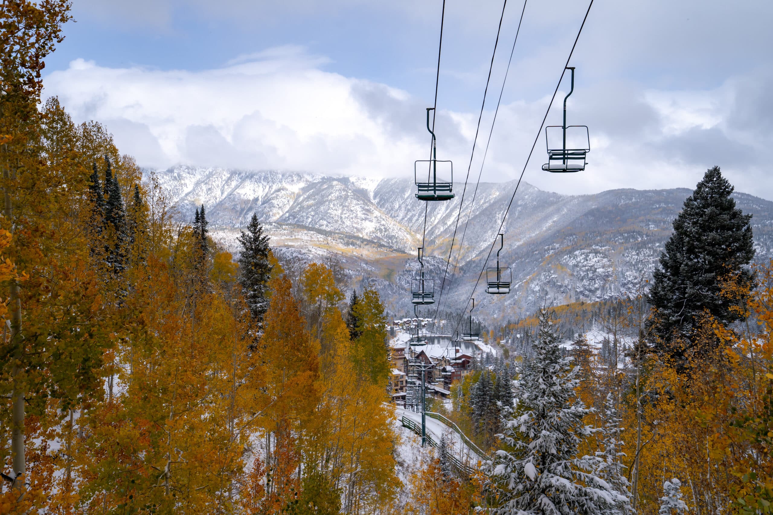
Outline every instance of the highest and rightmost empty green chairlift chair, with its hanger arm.
<svg viewBox="0 0 773 515">
<path fill-rule="evenodd" d="M 567 69 L 572 74 L 572 85 L 569 93 L 564 97 L 564 125 L 545 127 L 547 163 L 542 165 L 542 169 L 553 173 L 584 170 L 587 164 L 585 158 L 591 151 L 587 125 L 567 126 L 567 98 L 574 91 L 574 66 L 567 66 Z"/>
</svg>

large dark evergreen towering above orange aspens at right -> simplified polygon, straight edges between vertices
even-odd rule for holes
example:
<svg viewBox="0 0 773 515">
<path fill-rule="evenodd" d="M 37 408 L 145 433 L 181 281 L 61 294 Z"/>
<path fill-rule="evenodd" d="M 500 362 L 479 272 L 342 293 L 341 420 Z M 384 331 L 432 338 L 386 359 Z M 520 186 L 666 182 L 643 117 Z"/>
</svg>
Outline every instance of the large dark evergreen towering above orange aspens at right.
<svg viewBox="0 0 773 515">
<path fill-rule="evenodd" d="M 706 172 L 674 220 L 673 235 L 652 275 L 649 303 L 657 312 L 649 326 L 656 348 L 676 361 L 689 350 L 704 310 L 720 324 L 741 318 L 742 310 L 733 308 L 745 299 L 721 295 L 722 280 L 729 279 L 741 290 L 754 283 L 747 267 L 754 257 L 751 215 L 736 208 L 732 192 L 719 167 Z M 669 345 L 674 337 L 686 347 Z"/>
</svg>

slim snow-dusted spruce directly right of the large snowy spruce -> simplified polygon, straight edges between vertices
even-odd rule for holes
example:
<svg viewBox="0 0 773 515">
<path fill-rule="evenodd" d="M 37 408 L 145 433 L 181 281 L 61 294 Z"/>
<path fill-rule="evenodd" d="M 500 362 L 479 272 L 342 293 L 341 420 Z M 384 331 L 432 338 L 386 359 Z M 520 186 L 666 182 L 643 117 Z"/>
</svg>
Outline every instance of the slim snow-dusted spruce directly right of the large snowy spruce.
<svg viewBox="0 0 773 515">
<path fill-rule="evenodd" d="M 628 490 L 631 483 L 625 477 L 625 465 L 621 458 L 625 452 L 621 452 L 623 442 L 620 440 L 621 418 L 618 415 L 618 408 L 615 405 L 615 398 L 611 393 L 607 394 L 607 400 L 604 402 L 604 429 L 601 429 L 601 446 L 603 451 L 596 452 L 599 461 L 596 465 L 596 476 L 604 479 L 611 486 L 612 490 L 619 493 L 615 507 L 609 510 L 602 510 L 601 513 L 614 515 L 615 513 L 632 513 L 631 492 Z"/>
</svg>

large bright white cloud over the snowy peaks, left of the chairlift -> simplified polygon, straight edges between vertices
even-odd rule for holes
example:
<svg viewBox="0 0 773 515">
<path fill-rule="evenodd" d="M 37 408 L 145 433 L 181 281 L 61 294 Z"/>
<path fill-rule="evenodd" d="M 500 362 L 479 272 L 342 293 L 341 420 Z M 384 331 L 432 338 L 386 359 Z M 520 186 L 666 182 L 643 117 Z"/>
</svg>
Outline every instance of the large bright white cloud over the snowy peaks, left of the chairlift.
<svg viewBox="0 0 773 515">
<path fill-rule="evenodd" d="M 367 83 L 318 69 L 322 59 L 297 48 L 260 57 L 203 72 L 110 69 L 78 59 L 46 77 L 46 93 L 76 120 L 111 120 L 117 144 L 150 167 L 391 175 L 423 150 L 424 141 L 387 136 L 377 114 L 363 110 L 352 89 Z M 380 95 L 407 98 L 389 88 Z"/>
</svg>

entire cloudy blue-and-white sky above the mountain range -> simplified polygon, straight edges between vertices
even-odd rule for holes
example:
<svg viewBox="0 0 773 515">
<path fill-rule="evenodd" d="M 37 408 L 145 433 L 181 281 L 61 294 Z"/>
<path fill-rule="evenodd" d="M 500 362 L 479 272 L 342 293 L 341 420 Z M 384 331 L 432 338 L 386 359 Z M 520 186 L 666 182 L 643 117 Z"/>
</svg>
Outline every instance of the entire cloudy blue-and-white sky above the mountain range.
<svg viewBox="0 0 773 515">
<path fill-rule="evenodd" d="M 410 176 L 426 159 L 442 0 L 74 0 L 46 96 L 99 120 L 148 168 L 174 164 Z M 523 8 L 502 23 L 471 181 Z M 531 0 L 482 172 L 523 168 L 587 3 Z M 502 2 L 447 0 L 438 158 L 464 181 Z M 561 193 L 692 188 L 714 164 L 773 199 L 773 2 L 595 0 L 567 121 L 586 171 L 525 180 Z M 568 78 L 568 77 L 567 77 Z M 561 90 L 568 90 L 565 81 Z M 548 117 L 560 124 L 563 95 Z"/>
</svg>

